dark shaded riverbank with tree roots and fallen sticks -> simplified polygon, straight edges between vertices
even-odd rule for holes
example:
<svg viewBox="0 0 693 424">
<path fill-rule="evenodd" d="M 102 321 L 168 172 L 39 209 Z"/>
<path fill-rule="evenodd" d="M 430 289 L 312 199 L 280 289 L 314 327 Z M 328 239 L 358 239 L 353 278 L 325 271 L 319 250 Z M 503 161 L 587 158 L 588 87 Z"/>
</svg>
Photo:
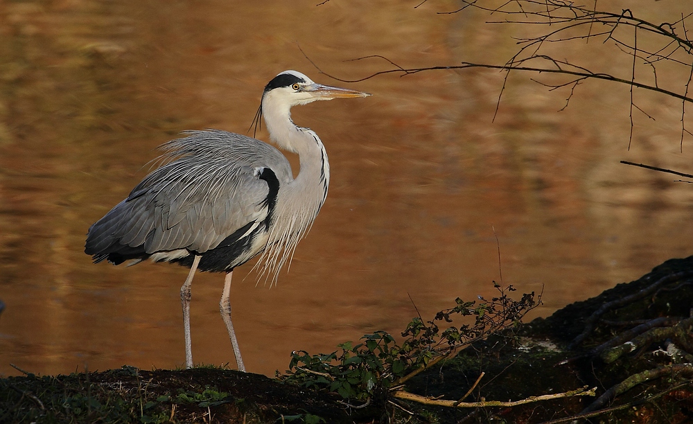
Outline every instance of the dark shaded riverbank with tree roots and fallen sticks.
<svg viewBox="0 0 693 424">
<path fill-rule="evenodd" d="M 672 259 L 365 402 L 217 367 L 25 370 L 0 379 L 0 422 L 685 423 L 693 420 L 692 306 L 693 257 Z"/>
</svg>

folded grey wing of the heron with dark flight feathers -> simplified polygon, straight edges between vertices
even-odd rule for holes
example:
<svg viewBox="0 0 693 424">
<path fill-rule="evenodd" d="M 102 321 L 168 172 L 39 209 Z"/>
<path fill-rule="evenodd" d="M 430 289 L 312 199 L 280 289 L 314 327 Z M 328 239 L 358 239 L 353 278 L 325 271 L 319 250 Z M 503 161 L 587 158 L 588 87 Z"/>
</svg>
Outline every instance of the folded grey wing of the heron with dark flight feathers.
<svg viewBox="0 0 693 424">
<path fill-rule="evenodd" d="M 97 262 L 177 249 L 202 254 L 231 235 L 243 238 L 270 213 L 263 170 L 279 186 L 292 179 L 279 150 L 239 134 L 188 132 L 161 148 L 164 165 L 89 229 L 85 252 Z"/>
</svg>

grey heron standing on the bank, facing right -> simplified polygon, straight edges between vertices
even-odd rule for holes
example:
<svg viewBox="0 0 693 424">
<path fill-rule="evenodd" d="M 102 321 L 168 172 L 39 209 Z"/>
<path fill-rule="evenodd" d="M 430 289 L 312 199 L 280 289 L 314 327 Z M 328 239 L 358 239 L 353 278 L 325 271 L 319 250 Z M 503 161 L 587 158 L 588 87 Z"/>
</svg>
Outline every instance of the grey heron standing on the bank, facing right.
<svg viewBox="0 0 693 424">
<path fill-rule="evenodd" d="M 149 258 L 190 267 L 180 290 L 186 368 L 193 366 L 195 270 L 226 273 L 219 307 L 238 369 L 245 371 L 231 323 L 234 268 L 260 255 L 255 266 L 276 281 L 325 202 L 330 181 L 325 147 L 315 132 L 293 123 L 291 107 L 366 96 L 319 85 L 297 71 L 279 73 L 265 86 L 258 113 L 270 139 L 299 155 L 296 178 L 286 157 L 263 141 L 220 130 L 188 131 L 161 145 L 161 166 L 89 228 L 85 253 L 94 263 L 134 265 Z"/>
</svg>

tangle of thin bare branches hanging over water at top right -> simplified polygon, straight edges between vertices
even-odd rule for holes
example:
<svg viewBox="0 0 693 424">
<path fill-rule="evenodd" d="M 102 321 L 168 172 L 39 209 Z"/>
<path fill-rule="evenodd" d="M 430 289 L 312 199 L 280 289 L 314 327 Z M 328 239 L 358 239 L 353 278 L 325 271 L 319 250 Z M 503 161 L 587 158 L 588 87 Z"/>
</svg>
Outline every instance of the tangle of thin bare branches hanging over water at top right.
<svg viewBox="0 0 693 424">
<path fill-rule="evenodd" d="M 421 4 L 425 1 L 426 0 L 423 0 Z M 317 66 L 316 68 L 326 76 L 342 82 L 358 82 L 387 73 L 401 73 L 401 76 L 409 76 L 413 73 L 423 71 L 471 68 L 498 69 L 502 71 L 504 75 L 502 86 L 498 93 L 498 99 L 496 100 L 492 121 L 495 121 L 498 117 L 500 101 L 505 94 L 510 74 L 513 71 L 544 74 L 552 73 L 573 77 L 569 82 L 555 85 L 552 88 L 570 86 L 570 94 L 565 100 L 565 105 L 560 110 L 564 110 L 568 107 L 577 85 L 579 85 L 582 80 L 606 80 L 627 85 L 629 88 L 629 148 L 633 141 L 633 133 L 635 131 L 634 109 L 640 110 L 644 115 L 653 119 L 651 114 L 635 104 L 635 89 L 654 91 L 681 100 L 682 149 L 686 134 L 693 136 L 693 133 L 687 130 L 685 122 L 687 103 L 693 102 L 693 96 L 690 96 L 689 90 L 690 83 L 693 80 L 693 60 L 691 58 L 693 55 L 693 42 L 687 36 L 686 28 L 686 20 L 693 16 L 693 12 L 687 15 L 681 14 L 681 18 L 672 23 L 663 22 L 661 24 L 656 24 L 636 17 L 629 9 L 615 12 L 597 10 L 597 0 L 594 1 L 593 6 L 580 6 L 572 1 L 564 0 L 507 0 L 498 7 L 485 6 L 484 2 L 478 0 L 462 0 L 462 6 L 456 10 L 440 13 L 458 13 L 466 8 L 484 10 L 494 17 L 500 16 L 499 19 L 487 21 L 488 24 L 539 25 L 547 26 L 548 29 L 545 33 L 538 36 L 516 38 L 519 46 L 518 51 L 505 64 L 459 62 L 450 66 L 403 67 L 383 56 L 378 56 L 394 65 L 394 69 L 385 69 L 383 71 L 371 73 L 369 76 L 356 80 L 338 78 L 337 76 L 325 73 Z M 608 43 L 611 45 L 613 43 L 620 51 L 626 53 L 626 55 L 632 56 L 630 69 L 626 71 L 629 75 L 625 72 L 622 74 L 611 74 L 593 71 L 581 66 L 577 62 L 556 60 L 556 58 L 552 58 L 550 55 L 543 54 L 544 47 L 548 43 L 570 42 L 572 40 L 581 39 L 584 39 L 588 43 L 590 39 L 595 37 L 599 39 L 602 44 Z M 376 56 L 365 56 L 356 60 L 365 60 L 366 58 L 374 57 Z M 640 60 L 642 60 L 642 63 L 640 63 Z M 677 67 L 676 69 L 678 69 L 681 74 L 681 80 L 685 78 L 684 72 L 687 74 L 688 80 L 685 85 L 683 81 L 681 85 L 678 85 L 681 89 L 660 87 L 658 82 L 658 67 L 665 63 Z M 651 75 L 653 76 L 651 80 L 649 77 L 643 76 L 644 73 L 639 71 L 639 67 L 642 65 L 650 69 Z M 685 69 L 685 71 L 682 69 Z M 649 75 L 649 72 L 647 72 L 647 75 Z M 540 84 L 543 83 L 540 82 Z M 547 87 L 552 86 L 547 85 Z"/>
</svg>

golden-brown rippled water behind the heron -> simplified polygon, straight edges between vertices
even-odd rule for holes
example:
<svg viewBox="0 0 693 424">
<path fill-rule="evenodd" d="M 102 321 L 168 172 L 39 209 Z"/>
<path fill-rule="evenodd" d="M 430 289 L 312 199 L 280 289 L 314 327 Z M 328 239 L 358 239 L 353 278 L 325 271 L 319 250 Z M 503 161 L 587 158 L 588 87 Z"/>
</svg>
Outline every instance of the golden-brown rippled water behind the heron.
<svg viewBox="0 0 693 424">
<path fill-rule="evenodd" d="M 345 62 L 363 55 L 420 66 L 500 63 L 516 50 L 510 28 L 479 12 L 435 14 L 452 1 L 315 3 L 0 3 L 0 373 L 16 374 L 10 363 L 35 373 L 183 363 L 186 270 L 92 265 L 85 233 L 146 174 L 160 143 L 186 129 L 245 132 L 279 71 L 336 84 L 299 46 L 342 78 L 387 66 Z M 629 7 L 655 21 L 680 16 L 652 3 Z M 629 69 L 617 59 L 581 57 Z M 390 75 L 349 85 L 371 98 L 294 109 L 324 141 L 332 184 L 276 288 L 256 285 L 252 266 L 235 272 L 249 371 L 283 371 L 295 349 L 397 333 L 415 315 L 410 296 L 427 317 L 455 297 L 493 294 L 494 229 L 505 283 L 543 285 L 534 316 L 691 253 L 690 188 L 618 164 L 690 168 L 678 103 L 639 94 L 657 121 L 636 119 L 626 150 L 626 88 L 589 82 L 556 112 L 565 92 L 511 76 L 492 123 L 501 85 L 494 71 Z M 221 274 L 193 282 L 195 362 L 232 360 L 221 290 Z"/>
</svg>

